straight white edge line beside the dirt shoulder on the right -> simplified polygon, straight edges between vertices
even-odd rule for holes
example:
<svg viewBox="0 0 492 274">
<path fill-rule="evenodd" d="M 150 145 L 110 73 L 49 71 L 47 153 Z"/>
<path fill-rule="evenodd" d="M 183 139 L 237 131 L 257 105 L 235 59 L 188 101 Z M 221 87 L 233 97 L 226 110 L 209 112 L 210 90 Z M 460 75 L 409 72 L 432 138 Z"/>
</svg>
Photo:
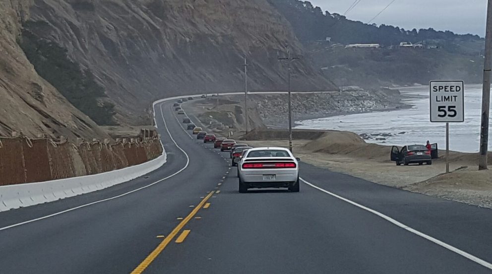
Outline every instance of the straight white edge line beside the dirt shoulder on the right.
<svg viewBox="0 0 492 274">
<path fill-rule="evenodd" d="M 458 249 L 458 248 L 456 248 L 454 246 L 451 246 L 451 245 L 446 244 L 446 243 L 444 243 L 444 242 L 442 242 L 440 240 L 437 240 L 436 238 L 433 238 L 433 237 L 431 237 L 431 236 L 429 236 L 427 234 L 424 234 L 424 233 L 422 233 L 422 232 L 420 232 L 420 231 L 418 231 L 416 229 L 413 229 L 413 228 L 409 227 L 408 225 L 405 225 L 405 224 L 403 224 L 403 223 L 401 223 L 401 222 L 399 222 L 399 221 L 397 221 L 397 220 L 395 220 L 395 219 L 393 219 L 393 218 L 391 218 L 391 217 L 389 217 L 387 215 L 384 215 L 383 213 L 380 213 L 380 212 L 378 212 L 378 211 L 376 211 L 374 209 L 371 209 L 371 208 L 369 208 L 367 206 L 363 206 L 363 205 L 357 204 L 356 202 L 353 202 L 351 200 L 348 200 L 346 198 L 343 198 L 341 196 L 338 196 L 338 195 L 336 195 L 334 193 L 331 193 L 331 192 L 329 192 L 327 190 L 324 190 L 324 189 L 322 189 L 320 187 L 317 187 L 317 186 L 309 183 L 308 181 L 304 180 L 303 178 L 300 178 L 300 179 L 301 179 L 301 181 L 303 181 L 305 184 L 307 184 L 308 186 L 310 186 L 312 188 L 315 188 L 315 189 L 317 189 L 319 191 L 322 191 L 322 192 L 324 192 L 324 193 L 326 193 L 328 195 L 331 195 L 331 196 L 333 196 L 333 197 L 335 197 L 337 199 L 340 199 L 340 200 L 342 200 L 344 202 L 347 202 L 347 203 L 349 203 L 349 204 L 351 204 L 353 206 L 357 206 L 357 207 L 359 207 L 361 209 L 364 209 L 366 211 L 369 211 L 370 213 L 372 213 L 374 215 L 377 215 L 377 216 L 385 219 L 386 221 L 388 221 L 388 222 L 390 222 L 390 223 L 392 223 L 392 224 L 394 224 L 394 225 L 396 225 L 396 226 L 398 226 L 400 228 L 403 228 L 403 229 L 405 229 L 405 230 L 407 230 L 409 232 L 412 232 L 415 235 L 418 235 L 418 236 L 420 236 L 420 237 L 422 237 L 422 238 L 424 238 L 426 240 L 429 240 L 429 241 L 431 241 L 431 242 L 433 242 L 433 243 L 435 243 L 435 244 L 437 244 L 437 245 L 439 245 L 439 246 L 441 246 L 441 247 L 443 247 L 445 249 L 448 249 L 448 250 L 450 250 L 450 251 L 452 251 L 452 252 L 454 252 L 454 253 L 456 253 L 458 255 L 461 255 L 461 256 L 465 257 L 466 259 L 469 259 L 469 260 L 471 260 L 471 261 L 473 261 L 473 262 L 475 262 L 475 263 L 477 263 L 479 265 L 482 265 L 482 266 L 484 266 L 484 267 L 492 270 L 492 264 L 489 263 L 489 262 L 486 262 L 486 261 L 484 261 L 484 260 L 482 260 L 480 258 L 477 258 L 477 257 L 475 257 L 475 256 L 473 256 L 473 255 L 471 255 L 471 254 L 469 254 L 469 253 L 461 250 L 461 249 Z"/>
</svg>

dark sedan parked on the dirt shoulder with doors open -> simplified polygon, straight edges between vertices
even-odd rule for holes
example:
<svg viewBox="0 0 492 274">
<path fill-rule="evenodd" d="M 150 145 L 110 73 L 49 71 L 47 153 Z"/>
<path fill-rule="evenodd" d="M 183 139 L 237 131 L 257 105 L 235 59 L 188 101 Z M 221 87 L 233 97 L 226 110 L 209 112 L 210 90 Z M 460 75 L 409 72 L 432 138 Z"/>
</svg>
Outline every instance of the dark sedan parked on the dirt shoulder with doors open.
<svg viewBox="0 0 492 274">
<path fill-rule="evenodd" d="M 405 145 L 401 149 L 397 146 L 391 148 L 391 160 L 396 162 L 396 165 L 409 165 L 418 163 L 419 165 L 427 163 L 432 164 L 431 151 L 423 144 Z"/>
</svg>

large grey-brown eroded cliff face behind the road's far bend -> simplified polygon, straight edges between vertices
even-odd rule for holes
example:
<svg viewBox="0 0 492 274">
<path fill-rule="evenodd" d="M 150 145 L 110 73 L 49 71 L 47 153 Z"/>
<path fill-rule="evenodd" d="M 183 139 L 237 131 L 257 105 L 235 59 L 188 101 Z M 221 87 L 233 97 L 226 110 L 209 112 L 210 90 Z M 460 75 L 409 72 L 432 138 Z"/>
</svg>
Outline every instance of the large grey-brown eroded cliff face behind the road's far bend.
<svg viewBox="0 0 492 274">
<path fill-rule="evenodd" d="M 12 2 L 17 2 L 14 0 Z M 67 50 L 116 104 L 118 123 L 148 123 L 166 95 L 285 89 L 277 58 L 303 49 L 266 0 L 34 0 L 33 35 Z M 297 90 L 336 90 L 306 59 L 293 63 Z"/>
</svg>

